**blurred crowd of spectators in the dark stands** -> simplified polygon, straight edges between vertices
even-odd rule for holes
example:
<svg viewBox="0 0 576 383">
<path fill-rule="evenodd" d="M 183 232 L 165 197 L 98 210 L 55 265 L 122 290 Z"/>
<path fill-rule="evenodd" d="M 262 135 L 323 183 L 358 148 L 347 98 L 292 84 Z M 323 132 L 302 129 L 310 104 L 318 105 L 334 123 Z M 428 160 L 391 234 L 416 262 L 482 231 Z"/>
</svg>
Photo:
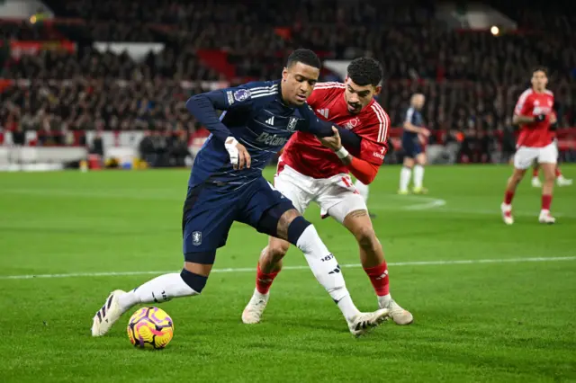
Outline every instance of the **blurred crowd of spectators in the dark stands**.
<svg viewBox="0 0 576 383">
<path fill-rule="evenodd" d="M 493 36 L 449 30 L 428 5 L 390 7 L 376 0 L 363 6 L 333 0 L 47 3 L 68 22 L 4 22 L 0 32 L 14 40 L 59 36 L 76 41 L 77 50 L 4 57 L 1 77 L 25 80 L 4 85 L 4 129 L 147 129 L 190 138 L 201 127 L 184 102 L 207 90 L 202 81 L 276 78 L 297 47 L 315 49 L 322 58 L 378 58 L 385 76 L 379 102 L 393 125 L 401 126 L 410 94 L 421 92 L 428 127 L 437 130 L 431 143 L 458 141 L 481 153 L 479 161 L 502 138 L 514 139 L 512 111 L 536 65 L 550 69 L 560 129 L 576 126 L 573 11 L 505 10 L 518 31 Z M 157 41 L 166 49 L 135 60 L 100 52 L 91 47 L 94 41 Z M 225 52 L 233 78 L 202 61 L 202 49 Z"/>
</svg>

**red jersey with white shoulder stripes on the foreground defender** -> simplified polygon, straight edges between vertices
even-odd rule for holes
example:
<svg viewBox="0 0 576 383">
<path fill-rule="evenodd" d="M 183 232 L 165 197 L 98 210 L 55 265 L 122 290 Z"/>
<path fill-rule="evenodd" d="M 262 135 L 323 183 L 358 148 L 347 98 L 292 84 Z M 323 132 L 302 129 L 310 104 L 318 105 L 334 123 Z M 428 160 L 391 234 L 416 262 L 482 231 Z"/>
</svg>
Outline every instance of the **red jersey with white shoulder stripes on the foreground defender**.
<svg viewBox="0 0 576 383">
<path fill-rule="evenodd" d="M 350 113 L 345 89 L 346 85 L 341 83 L 319 83 L 308 98 L 308 104 L 320 119 L 351 129 L 362 137 L 360 151 L 350 151 L 352 156 L 374 165 L 383 165 L 384 155 L 388 150 L 386 143 L 390 118 L 375 100 L 359 113 Z M 284 147 L 281 161 L 297 172 L 313 178 L 329 178 L 348 173 L 347 166 L 342 164 L 331 149 L 322 146 L 316 136 L 302 131 L 297 131 L 290 138 Z"/>
</svg>

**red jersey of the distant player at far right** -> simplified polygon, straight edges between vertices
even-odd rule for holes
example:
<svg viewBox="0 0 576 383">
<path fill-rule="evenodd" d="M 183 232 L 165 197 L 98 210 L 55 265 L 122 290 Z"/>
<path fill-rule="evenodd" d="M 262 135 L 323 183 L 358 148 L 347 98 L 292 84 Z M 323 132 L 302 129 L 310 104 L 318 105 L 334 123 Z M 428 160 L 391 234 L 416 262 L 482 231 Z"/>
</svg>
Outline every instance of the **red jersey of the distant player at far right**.
<svg viewBox="0 0 576 383">
<path fill-rule="evenodd" d="M 550 91 L 538 94 L 532 88 L 524 91 L 518 99 L 514 114 L 536 116 L 545 114 L 543 121 L 520 125 L 517 147 L 545 147 L 552 143 L 554 132 L 550 130 L 550 116 L 554 114 L 554 94 Z"/>
</svg>

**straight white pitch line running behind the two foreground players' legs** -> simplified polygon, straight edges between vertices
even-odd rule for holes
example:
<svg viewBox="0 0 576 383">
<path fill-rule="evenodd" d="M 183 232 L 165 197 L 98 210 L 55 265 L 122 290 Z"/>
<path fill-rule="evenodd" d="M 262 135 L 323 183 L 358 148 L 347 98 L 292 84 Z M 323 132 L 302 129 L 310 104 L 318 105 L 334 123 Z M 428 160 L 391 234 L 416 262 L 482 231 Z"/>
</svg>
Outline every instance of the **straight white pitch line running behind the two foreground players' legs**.
<svg viewBox="0 0 576 383">
<path fill-rule="evenodd" d="M 508 258 L 508 259 L 469 259 L 469 260 L 453 260 L 453 261 L 413 261 L 413 262 L 395 262 L 388 263 L 391 267 L 401 266 L 436 266 L 436 265 L 450 265 L 450 264 L 482 264 L 482 263 L 523 263 L 523 262 L 560 262 L 560 261 L 576 261 L 576 256 L 563 256 L 563 257 L 536 257 L 536 258 Z M 360 263 L 342 264 L 343 268 L 361 267 Z M 310 267 L 301 266 L 284 266 L 283 270 L 307 270 Z M 166 274 L 168 272 L 175 272 L 174 270 L 165 272 L 72 272 L 68 274 L 37 274 L 37 275 L 0 275 L 0 280 L 32 280 L 35 278 L 73 278 L 73 277 L 121 277 L 129 275 L 148 275 L 148 274 Z M 254 268 L 229 268 L 229 269 L 214 269 L 213 272 L 256 272 Z"/>
</svg>

